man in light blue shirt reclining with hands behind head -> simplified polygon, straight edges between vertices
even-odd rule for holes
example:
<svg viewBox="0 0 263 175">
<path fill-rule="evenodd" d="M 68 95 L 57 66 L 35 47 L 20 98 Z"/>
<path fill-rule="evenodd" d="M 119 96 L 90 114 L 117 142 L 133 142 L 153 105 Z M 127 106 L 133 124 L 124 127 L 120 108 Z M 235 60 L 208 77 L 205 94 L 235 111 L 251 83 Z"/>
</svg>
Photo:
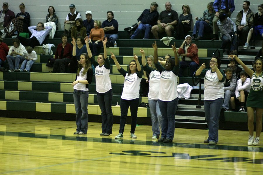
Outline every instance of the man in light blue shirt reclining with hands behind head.
<svg viewBox="0 0 263 175">
<path fill-rule="evenodd" d="M 18 36 L 17 38 L 20 40 L 20 43 L 23 44 L 24 46 L 30 46 L 34 49 L 35 46 L 40 46 L 43 43 L 46 36 L 49 35 L 49 32 L 51 31 L 52 27 L 50 26 L 44 27 L 44 24 L 42 22 L 39 22 L 37 26 L 31 26 L 28 27 L 28 29 L 32 33 L 29 39 L 24 38 L 22 36 Z M 44 31 L 44 29 L 46 30 Z"/>
</svg>

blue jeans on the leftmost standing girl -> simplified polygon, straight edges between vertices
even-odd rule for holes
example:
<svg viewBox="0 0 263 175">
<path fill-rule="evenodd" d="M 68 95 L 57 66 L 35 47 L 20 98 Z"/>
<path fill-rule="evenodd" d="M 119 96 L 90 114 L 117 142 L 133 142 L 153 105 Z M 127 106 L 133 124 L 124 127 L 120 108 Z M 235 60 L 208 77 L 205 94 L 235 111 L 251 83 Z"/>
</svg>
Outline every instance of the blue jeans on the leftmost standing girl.
<svg viewBox="0 0 263 175">
<path fill-rule="evenodd" d="M 88 98 L 88 91 L 74 89 L 73 99 L 76 110 L 76 131 L 83 132 L 84 134 L 87 134 L 88 131 Z"/>
</svg>

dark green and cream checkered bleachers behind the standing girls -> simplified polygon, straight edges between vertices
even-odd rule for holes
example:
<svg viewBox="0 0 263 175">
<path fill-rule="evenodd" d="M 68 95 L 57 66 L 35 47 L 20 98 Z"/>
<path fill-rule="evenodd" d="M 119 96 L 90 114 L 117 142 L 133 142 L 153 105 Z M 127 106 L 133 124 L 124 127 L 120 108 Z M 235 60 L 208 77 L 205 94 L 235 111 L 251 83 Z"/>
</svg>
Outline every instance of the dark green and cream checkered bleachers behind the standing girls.
<svg viewBox="0 0 263 175">
<path fill-rule="evenodd" d="M 61 43 L 60 35 L 63 31 L 56 31 L 54 39 L 45 39 L 43 44 L 52 43 L 55 46 Z M 191 35 L 191 32 L 189 32 Z M 129 39 L 129 33 L 126 31 L 119 32 L 120 38 L 117 39 L 117 48 L 107 48 L 108 55 L 113 52 L 121 66 L 128 70 L 128 64 L 133 59 L 133 54 L 139 56 L 141 63 L 140 48 L 143 48 L 146 55 L 153 55 L 152 39 Z M 209 66 L 209 61 L 212 54 L 220 48 L 222 41 L 199 40 L 192 41 L 198 46 L 198 56 L 200 63 L 206 63 Z M 69 42 L 71 40 L 69 39 Z M 4 38 L 3 42 L 8 46 L 12 45 L 12 38 Z M 171 45 L 175 42 L 177 48 L 181 46 L 183 40 L 172 40 L 170 46 L 166 46 L 162 41 L 156 41 L 158 45 L 158 56 L 164 57 L 166 54 L 173 56 Z M 59 74 L 49 73 L 52 68 L 46 67 L 46 63 L 50 57 L 54 55 L 41 55 L 41 46 L 35 47 L 34 50 L 38 54 L 38 59 L 33 64 L 30 73 L 26 72 L 0 72 L 0 110 L 2 116 L 16 118 L 43 118 L 53 120 L 75 120 L 75 107 L 73 102 L 71 83 L 75 81 L 75 74 Z M 56 52 L 56 47 L 52 47 L 53 53 Z M 259 47 L 254 50 L 243 50 L 241 47 L 238 54 L 247 65 L 251 65 L 254 60 L 253 55 Z M 100 52 L 103 52 L 101 48 Z M 228 58 L 223 55 L 221 68 L 225 69 L 228 64 Z M 250 54 L 251 53 L 251 54 Z M 217 54 L 217 53 L 216 53 Z M 120 106 L 115 106 L 120 102 L 120 97 L 123 89 L 124 77 L 119 74 L 112 59 L 110 59 L 110 79 L 113 89 L 112 108 L 114 122 L 118 123 L 120 117 Z M 6 63 L 4 67 L 8 68 Z M 251 66 L 252 68 L 252 66 Z M 193 86 L 191 97 L 189 99 L 180 99 L 176 111 L 176 127 L 186 128 L 202 128 L 205 129 L 206 121 L 203 108 L 203 100 L 200 101 L 201 108 L 197 108 L 199 98 L 199 84 L 194 86 L 192 78 L 188 77 L 189 70 L 186 69 L 184 77 L 178 77 L 178 84 L 188 83 Z M 96 98 L 95 76 L 92 83 L 89 85 L 89 100 L 88 113 L 89 121 L 100 122 L 101 111 Z M 201 84 L 201 97 L 203 97 L 204 88 Z M 148 102 L 147 97 L 140 97 L 139 104 Z M 128 112 L 129 115 L 129 112 Z M 221 114 L 221 129 L 247 129 L 247 113 L 229 112 Z M 130 119 L 127 120 L 130 122 Z M 138 109 L 139 125 L 151 125 L 150 109 Z M 236 125 L 237 124 L 237 125 Z"/>
</svg>

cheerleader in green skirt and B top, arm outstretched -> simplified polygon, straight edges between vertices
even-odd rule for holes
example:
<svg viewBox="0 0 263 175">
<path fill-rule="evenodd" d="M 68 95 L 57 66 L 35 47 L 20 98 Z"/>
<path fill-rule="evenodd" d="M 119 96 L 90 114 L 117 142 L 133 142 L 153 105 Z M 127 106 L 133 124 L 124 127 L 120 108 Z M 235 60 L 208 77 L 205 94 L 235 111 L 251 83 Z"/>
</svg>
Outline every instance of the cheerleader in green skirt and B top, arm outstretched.
<svg viewBox="0 0 263 175">
<path fill-rule="evenodd" d="M 255 72 L 249 69 L 236 55 L 229 55 L 234 58 L 251 77 L 250 92 L 247 99 L 248 111 L 248 145 L 259 144 L 259 136 L 262 130 L 262 113 L 263 113 L 263 60 L 255 60 Z M 256 112 L 256 138 L 254 140 L 254 113 Z"/>
</svg>

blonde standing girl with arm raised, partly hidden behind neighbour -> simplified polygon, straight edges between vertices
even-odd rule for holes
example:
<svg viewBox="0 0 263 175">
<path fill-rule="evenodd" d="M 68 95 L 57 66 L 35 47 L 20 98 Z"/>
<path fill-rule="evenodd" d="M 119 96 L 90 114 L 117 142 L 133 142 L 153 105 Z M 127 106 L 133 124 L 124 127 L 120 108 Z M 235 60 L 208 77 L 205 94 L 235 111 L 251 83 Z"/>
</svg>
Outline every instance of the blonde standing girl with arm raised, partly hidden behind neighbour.
<svg viewBox="0 0 263 175">
<path fill-rule="evenodd" d="M 149 62 L 148 64 L 146 64 L 144 50 L 141 49 L 140 52 L 141 52 L 141 63 L 143 65 L 143 72 L 147 72 L 147 74 L 149 75 L 148 103 L 150 106 L 151 119 L 152 119 L 152 131 L 153 131 L 152 139 L 159 139 L 160 136 L 159 127 L 161 126 L 161 122 L 162 122 L 162 114 L 158 104 L 159 91 L 157 91 L 157 89 L 159 89 L 160 86 L 161 74 L 159 71 L 155 69 L 155 65 L 153 62 L 151 62 L 151 64 L 149 64 Z"/>
</svg>

